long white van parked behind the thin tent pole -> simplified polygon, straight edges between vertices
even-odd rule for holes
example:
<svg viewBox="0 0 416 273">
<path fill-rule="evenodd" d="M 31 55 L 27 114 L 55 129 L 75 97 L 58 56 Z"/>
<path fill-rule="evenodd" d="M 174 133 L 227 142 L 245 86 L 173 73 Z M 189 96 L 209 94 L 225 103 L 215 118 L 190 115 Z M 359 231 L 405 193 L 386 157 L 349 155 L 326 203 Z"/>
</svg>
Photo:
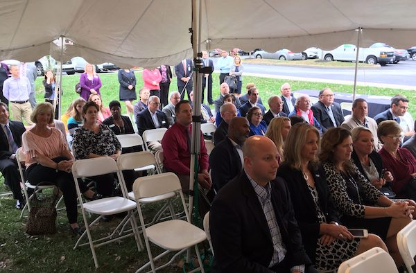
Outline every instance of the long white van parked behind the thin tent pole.
<svg viewBox="0 0 416 273">
<path fill-rule="evenodd" d="M 355 62 L 356 46 L 354 44 L 343 44 L 331 51 L 323 51 L 323 56 L 326 61 Z M 395 62 L 395 55 L 392 49 L 388 47 L 378 47 L 375 49 L 361 47 L 358 53 L 358 62 L 381 65 L 391 64 Z"/>
</svg>

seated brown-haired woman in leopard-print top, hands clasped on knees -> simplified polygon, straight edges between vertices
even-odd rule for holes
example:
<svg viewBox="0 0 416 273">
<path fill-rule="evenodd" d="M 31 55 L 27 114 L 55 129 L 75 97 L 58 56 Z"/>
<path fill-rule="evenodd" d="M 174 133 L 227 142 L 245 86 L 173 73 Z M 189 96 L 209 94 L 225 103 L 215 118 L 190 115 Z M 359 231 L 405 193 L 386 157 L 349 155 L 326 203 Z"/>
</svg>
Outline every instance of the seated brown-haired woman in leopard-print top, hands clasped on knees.
<svg viewBox="0 0 416 273">
<path fill-rule="evenodd" d="M 400 266 L 403 260 L 397 249 L 396 234 L 411 221 L 415 207 L 385 197 L 352 164 L 351 153 L 352 137 L 348 130 L 335 127 L 322 136 L 320 160 L 341 221 L 348 228 L 367 229 L 380 236 Z"/>
</svg>

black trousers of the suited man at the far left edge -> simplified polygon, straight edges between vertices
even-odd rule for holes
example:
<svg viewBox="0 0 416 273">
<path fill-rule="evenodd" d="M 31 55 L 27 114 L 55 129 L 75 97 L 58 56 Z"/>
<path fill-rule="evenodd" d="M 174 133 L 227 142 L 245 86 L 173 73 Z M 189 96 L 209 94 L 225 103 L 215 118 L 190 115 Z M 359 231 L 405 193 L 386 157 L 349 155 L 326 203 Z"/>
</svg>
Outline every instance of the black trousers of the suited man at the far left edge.
<svg viewBox="0 0 416 273">
<path fill-rule="evenodd" d="M 2 159 L 0 160 L 0 171 L 3 174 L 4 182 L 8 184 L 12 190 L 15 200 L 23 200 L 20 187 L 20 174 L 17 161 L 15 159 Z"/>
</svg>

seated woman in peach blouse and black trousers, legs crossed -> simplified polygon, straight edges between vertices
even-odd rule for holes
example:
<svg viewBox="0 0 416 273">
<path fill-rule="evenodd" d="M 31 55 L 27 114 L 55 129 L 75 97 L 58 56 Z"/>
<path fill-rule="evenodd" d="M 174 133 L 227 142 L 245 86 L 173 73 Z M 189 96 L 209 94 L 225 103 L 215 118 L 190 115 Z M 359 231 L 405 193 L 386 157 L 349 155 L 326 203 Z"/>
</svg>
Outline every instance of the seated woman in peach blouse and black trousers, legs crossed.
<svg viewBox="0 0 416 273">
<path fill-rule="evenodd" d="M 22 135 L 23 149 L 26 153 L 26 176 L 28 182 L 37 185 L 48 182 L 58 186 L 64 195 L 67 207 L 67 218 L 71 230 L 75 234 L 82 234 L 77 222 L 77 195 L 71 167 L 73 155 L 69 152 L 67 141 L 62 133 L 49 127 L 53 123 L 53 106 L 51 103 L 39 103 L 31 114 L 31 121 L 35 126 Z M 98 199 L 101 195 L 89 190 L 80 183 L 80 191 L 87 199 Z"/>
</svg>

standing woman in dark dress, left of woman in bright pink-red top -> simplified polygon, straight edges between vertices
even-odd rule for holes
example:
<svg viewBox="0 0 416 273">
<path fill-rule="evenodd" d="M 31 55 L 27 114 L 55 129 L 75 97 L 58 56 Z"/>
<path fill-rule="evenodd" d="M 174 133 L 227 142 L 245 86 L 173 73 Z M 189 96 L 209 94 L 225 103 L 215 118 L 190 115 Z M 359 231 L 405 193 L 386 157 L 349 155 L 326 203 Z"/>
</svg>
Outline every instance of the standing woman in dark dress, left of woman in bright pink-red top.
<svg viewBox="0 0 416 273">
<path fill-rule="evenodd" d="M 124 101 L 125 107 L 127 107 L 127 114 L 133 114 L 132 101 L 136 100 L 136 76 L 135 71 L 131 69 L 120 69 L 119 70 L 119 98 Z"/>
</svg>

